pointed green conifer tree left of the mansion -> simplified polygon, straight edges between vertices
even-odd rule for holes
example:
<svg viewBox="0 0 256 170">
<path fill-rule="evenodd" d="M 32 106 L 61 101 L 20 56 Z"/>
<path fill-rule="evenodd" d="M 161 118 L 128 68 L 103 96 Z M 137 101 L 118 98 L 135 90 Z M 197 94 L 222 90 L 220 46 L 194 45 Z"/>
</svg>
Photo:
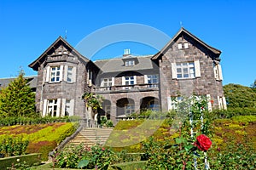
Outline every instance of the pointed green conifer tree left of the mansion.
<svg viewBox="0 0 256 170">
<path fill-rule="evenodd" d="M 24 71 L 3 88 L 0 94 L 0 117 L 33 116 L 35 113 L 35 94 L 27 85 Z"/>
</svg>

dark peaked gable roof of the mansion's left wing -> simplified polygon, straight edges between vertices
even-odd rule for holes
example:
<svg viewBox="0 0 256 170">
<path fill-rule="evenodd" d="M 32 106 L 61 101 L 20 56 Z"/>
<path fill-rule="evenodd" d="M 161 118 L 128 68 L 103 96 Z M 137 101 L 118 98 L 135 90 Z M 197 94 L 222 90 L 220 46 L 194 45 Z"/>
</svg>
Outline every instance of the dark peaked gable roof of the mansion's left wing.
<svg viewBox="0 0 256 170">
<path fill-rule="evenodd" d="M 47 57 L 47 55 L 49 54 L 49 52 L 51 50 L 54 50 L 54 48 L 59 45 L 59 44 L 63 44 L 65 45 L 68 50 L 72 51 L 73 54 L 76 54 L 79 59 L 84 60 L 85 62 L 89 62 L 90 60 L 85 58 L 82 54 L 79 54 L 79 52 L 73 48 L 65 39 L 63 39 L 61 36 L 58 37 L 55 42 L 53 42 L 49 48 L 47 48 L 43 54 L 41 54 L 38 59 L 34 60 L 30 65 L 28 65 L 29 67 L 31 67 L 34 71 L 38 71 L 38 65 L 40 65 L 41 63 L 44 62 L 45 58 Z"/>
</svg>

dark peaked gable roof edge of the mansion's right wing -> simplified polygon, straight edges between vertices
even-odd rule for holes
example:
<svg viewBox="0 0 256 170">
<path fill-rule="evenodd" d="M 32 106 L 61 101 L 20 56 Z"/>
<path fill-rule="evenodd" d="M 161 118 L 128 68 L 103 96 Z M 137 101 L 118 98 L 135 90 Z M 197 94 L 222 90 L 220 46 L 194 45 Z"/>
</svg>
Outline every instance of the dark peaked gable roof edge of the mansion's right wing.
<svg viewBox="0 0 256 170">
<path fill-rule="evenodd" d="M 217 48 L 212 48 L 206 42 L 201 41 L 201 39 L 199 39 L 198 37 L 195 37 L 195 35 L 193 35 L 192 33 L 190 33 L 189 31 L 185 30 L 182 27 L 179 31 L 177 31 L 177 34 L 174 37 L 172 37 L 172 40 L 168 42 L 166 46 L 160 50 L 160 52 L 158 52 L 157 54 L 154 54 L 152 59 L 158 59 L 160 57 L 160 54 L 164 54 L 166 52 L 166 49 L 172 44 L 172 42 L 174 42 L 177 39 L 177 37 L 181 36 L 183 33 L 193 38 L 196 42 L 199 42 L 203 47 L 212 51 L 213 54 L 217 54 L 218 56 L 221 54 L 220 50 L 218 50 Z"/>
</svg>

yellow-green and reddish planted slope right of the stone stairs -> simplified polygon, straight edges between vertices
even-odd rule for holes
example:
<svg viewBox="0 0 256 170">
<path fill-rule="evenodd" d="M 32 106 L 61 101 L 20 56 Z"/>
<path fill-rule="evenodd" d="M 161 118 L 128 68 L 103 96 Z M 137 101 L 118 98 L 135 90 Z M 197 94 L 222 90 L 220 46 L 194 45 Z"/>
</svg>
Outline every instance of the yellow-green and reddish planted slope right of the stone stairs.
<svg viewBox="0 0 256 170">
<path fill-rule="evenodd" d="M 212 122 L 212 142 L 215 148 L 228 149 L 230 143 L 253 146 L 256 151 L 256 116 L 234 116 L 231 119 L 217 119 Z M 168 120 L 131 120 L 120 121 L 114 127 L 106 146 L 115 150 L 143 152 L 143 141 L 153 136 L 158 141 L 174 142 L 178 136 L 177 128 Z"/>
</svg>

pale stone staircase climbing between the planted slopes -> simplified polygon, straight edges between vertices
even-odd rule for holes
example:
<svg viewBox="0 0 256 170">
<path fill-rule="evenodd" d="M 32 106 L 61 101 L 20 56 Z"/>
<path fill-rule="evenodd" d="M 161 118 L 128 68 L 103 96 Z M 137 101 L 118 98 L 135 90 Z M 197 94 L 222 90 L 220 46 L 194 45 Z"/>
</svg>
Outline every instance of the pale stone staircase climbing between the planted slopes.
<svg viewBox="0 0 256 170">
<path fill-rule="evenodd" d="M 83 128 L 66 146 L 71 144 L 79 145 L 81 143 L 89 147 L 95 144 L 105 144 L 112 131 L 113 128 Z"/>
</svg>

